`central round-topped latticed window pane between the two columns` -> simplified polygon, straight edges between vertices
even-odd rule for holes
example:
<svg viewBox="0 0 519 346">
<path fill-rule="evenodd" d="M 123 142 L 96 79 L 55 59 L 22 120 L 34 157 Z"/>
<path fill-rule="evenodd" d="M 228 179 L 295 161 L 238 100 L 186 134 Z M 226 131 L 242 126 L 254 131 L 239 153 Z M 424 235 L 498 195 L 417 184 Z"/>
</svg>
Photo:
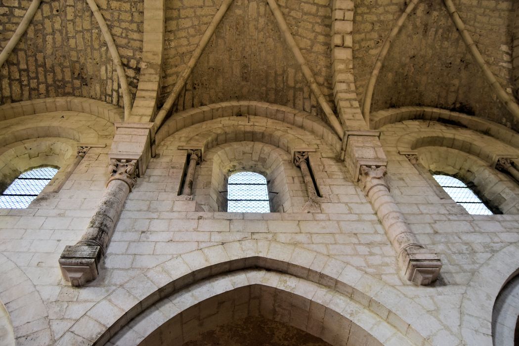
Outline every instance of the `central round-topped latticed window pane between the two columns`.
<svg viewBox="0 0 519 346">
<path fill-rule="evenodd" d="M 227 182 L 227 211 L 269 213 L 267 179 L 258 173 L 239 172 Z"/>
</svg>

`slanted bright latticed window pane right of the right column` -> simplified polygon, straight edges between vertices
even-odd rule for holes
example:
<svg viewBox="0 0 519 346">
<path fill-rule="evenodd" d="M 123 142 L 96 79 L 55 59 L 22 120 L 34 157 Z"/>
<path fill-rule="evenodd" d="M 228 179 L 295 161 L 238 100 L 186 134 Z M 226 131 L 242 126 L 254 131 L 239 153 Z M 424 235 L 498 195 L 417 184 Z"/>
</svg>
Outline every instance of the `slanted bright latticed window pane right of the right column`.
<svg viewBox="0 0 519 346">
<path fill-rule="evenodd" d="M 467 184 L 449 175 L 435 174 L 434 179 L 456 203 L 465 208 L 469 214 L 492 215 L 488 207 L 467 186 Z"/>
</svg>

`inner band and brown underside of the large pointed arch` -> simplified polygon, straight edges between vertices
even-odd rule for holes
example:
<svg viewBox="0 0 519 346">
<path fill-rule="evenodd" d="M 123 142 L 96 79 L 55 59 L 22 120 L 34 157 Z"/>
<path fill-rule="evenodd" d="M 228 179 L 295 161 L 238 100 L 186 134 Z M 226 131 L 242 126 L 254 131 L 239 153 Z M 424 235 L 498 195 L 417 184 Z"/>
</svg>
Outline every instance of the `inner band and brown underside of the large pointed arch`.
<svg viewBox="0 0 519 346">
<path fill-rule="evenodd" d="M 336 290 L 264 269 L 230 272 L 185 287 L 143 311 L 109 343 L 161 345 L 166 339 L 182 344 L 248 316 L 288 324 L 332 345 L 414 345 L 382 317 Z"/>
</svg>

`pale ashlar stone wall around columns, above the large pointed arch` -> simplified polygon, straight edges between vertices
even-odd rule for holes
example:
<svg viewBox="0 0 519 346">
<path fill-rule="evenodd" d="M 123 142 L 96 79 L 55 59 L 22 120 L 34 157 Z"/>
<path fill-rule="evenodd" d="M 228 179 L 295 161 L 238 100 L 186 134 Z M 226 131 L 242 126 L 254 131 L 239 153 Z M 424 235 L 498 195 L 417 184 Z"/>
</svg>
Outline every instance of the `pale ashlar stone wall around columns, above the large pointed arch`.
<svg viewBox="0 0 519 346">
<path fill-rule="evenodd" d="M 230 264 L 225 264 L 226 256 L 243 259 L 239 263 L 244 268 L 248 261 L 244 258 L 252 256 L 257 260 L 253 265 L 301 275 L 287 281 L 293 282 L 293 287 L 299 287 L 298 277 L 327 289 L 330 285 L 343 287 L 341 292 L 349 292 L 349 299 L 387 321 L 388 328 L 400 330 L 411 344 L 459 344 L 462 329 L 486 328 L 464 319 L 464 295 L 480 267 L 519 241 L 519 216 L 473 216 L 454 202 L 439 198 L 427 176 L 398 151 L 402 137 L 431 128 L 446 134 L 454 129 L 438 122 L 407 120 L 381 128 L 380 141 L 389 159 L 387 180 L 392 196 L 420 242 L 442 259 L 440 278 L 434 285 L 417 287 L 400 276 L 384 229 L 333 147 L 281 120 L 222 116 L 187 126 L 158 143 L 159 155 L 128 196 L 99 278 L 85 287 L 64 282 L 57 263 L 64 246 L 80 239 L 102 196 L 107 179 L 106 148 L 91 148 L 55 195 L 35 201 L 26 210 L 0 211 L 1 271 L 6 278 L 0 282 L 0 299 L 10 314 L 18 342 L 92 343 L 108 329 L 124 325 L 116 321 L 134 316 L 135 307 L 142 307 L 143 301 L 158 301 L 164 292 L 175 292 L 175 285 L 188 283 L 185 278 L 193 283 L 206 278 L 216 268 L 210 265 L 213 260 L 222 261 L 218 270 L 231 270 Z M 474 142 L 485 141 L 489 153 L 497 155 L 507 148 L 480 133 L 463 131 Z M 298 212 L 296 203 L 292 212 L 285 213 L 205 211 L 203 203 L 197 205 L 199 190 L 195 189 L 193 200 L 177 196 L 186 158 L 183 146 L 199 146 L 203 153 L 224 147 L 227 157 L 239 157 L 240 150 L 241 155 L 246 150 L 232 144 L 244 142 L 274 146 L 285 153 L 301 149 L 303 144 L 308 150 L 315 149 L 310 151 L 310 162 L 316 167 L 323 194 L 318 203 L 320 212 Z M 291 156 L 279 157 L 285 172 L 297 170 L 289 161 Z M 197 167 L 198 188 L 208 162 Z M 289 177 L 295 179 L 297 174 L 286 176 L 290 198 L 304 198 L 298 196 L 300 184 L 296 180 L 289 183 Z M 284 265 L 268 259 L 278 256 Z M 289 266 L 291 261 L 296 263 L 290 256 L 302 256 L 301 262 Z M 349 286 L 327 279 L 332 271 L 336 277 L 343 273 L 340 280 Z M 258 283 L 270 280 L 263 275 L 258 276 Z M 173 280 L 180 277 L 184 278 L 180 282 Z M 221 286 L 214 285 L 203 281 L 198 289 L 216 294 Z M 148 330 L 158 325 L 149 320 L 142 327 Z M 132 328 L 146 335 L 139 326 Z M 380 335 L 377 338 L 383 339 Z M 485 344 L 484 339 L 481 344 Z"/>
</svg>

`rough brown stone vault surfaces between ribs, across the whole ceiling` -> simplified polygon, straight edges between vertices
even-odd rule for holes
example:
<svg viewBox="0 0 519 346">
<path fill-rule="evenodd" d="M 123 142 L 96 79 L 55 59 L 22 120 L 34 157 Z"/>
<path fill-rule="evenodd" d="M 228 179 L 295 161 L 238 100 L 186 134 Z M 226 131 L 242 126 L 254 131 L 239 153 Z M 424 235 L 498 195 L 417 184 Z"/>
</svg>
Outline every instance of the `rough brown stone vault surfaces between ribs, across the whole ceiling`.
<svg viewBox="0 0 519 346">
<path fill-rule="evenodd" d="M 499 85 L 517 102 L 519 3 L 454 0 L 458 13 Z M 333 2 L 277 3 L 326 100 L 332 85 Z M 519 124 L 474 62 L 442 2 L 419 0 L 394 38 L 373 89 L 371 112 L 398 106 L 434 106 L 504 124 Z M 3 47 L 29 2 L 0 6 Z M 142 67 L 144 0 L 97 0 L 135 99 Z M 221 0 L 167 0 L 161 99 L 169 93 Z M 409 4 L 355 0 L 353 73 L 363 106 L 380 49 Z M 0 103 L 75 95 L 123 105 L 119 78 L 92 12 L 83 1 L 42 2 L 8 61 L 0 68 Z M 204 50 L 176 110 L 231 100 L 287 105 L 322 116 L 301 68 L 279 34 L 266 0 L 235 0 Z M 160 101 L 159 100 L 159 106 Z"/>
</svg>

